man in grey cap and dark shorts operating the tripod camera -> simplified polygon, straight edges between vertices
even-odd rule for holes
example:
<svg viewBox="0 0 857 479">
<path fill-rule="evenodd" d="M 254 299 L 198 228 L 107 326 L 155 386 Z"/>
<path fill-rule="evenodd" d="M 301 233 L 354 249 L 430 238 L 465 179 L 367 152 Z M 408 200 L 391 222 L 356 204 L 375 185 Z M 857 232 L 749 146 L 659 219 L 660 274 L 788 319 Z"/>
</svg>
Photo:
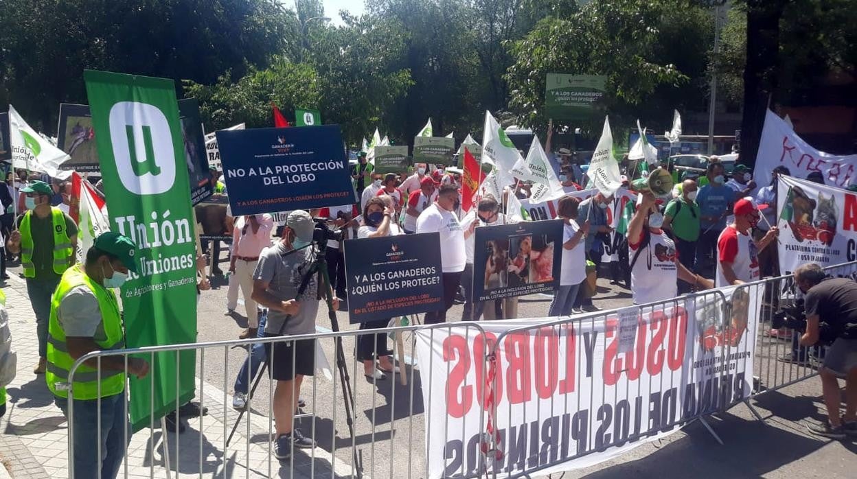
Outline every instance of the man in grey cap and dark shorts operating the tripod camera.
<svg viewBox="0 0 857 479">
<path fill-rule="evenodd" d="M 290 336 L 315 332 L 319 300 L 315 274 L 298 294 L 303 276 L 315 260 L 312 245 L 315 223 L 309 213 L 295 210 L 285 219 L 282 239 L 262 250 L 253 275 L 253 299 L 268 308 L 265 336 Z M 333 299 L 339 308 L 339 299 Z M 315 340 L 284 340 L 265 344 L 271 377 L 277 380 L 273 393 L 273 416 L 277 435 L 274 455 L 291 456 L 292 447 L 315 447 L 315 440 L 292 428 L 301 381 L 315 373 Z"/>
</svg>

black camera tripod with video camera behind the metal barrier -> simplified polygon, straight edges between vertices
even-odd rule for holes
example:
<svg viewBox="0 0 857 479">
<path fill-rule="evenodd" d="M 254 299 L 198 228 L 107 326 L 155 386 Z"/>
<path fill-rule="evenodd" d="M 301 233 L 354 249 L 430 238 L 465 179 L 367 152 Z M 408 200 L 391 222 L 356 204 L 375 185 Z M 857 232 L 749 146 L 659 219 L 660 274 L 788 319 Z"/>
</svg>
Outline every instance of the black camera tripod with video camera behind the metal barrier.
<svg viewBox="0 0 857 479">
<path fill-rule="evenodd" d="M 327 318 L 330 320 L 331 330 L 333 332 L 339 332 L 339 321 L 336 319 L 336 312 L 333 310 L 333 290 L 330 286 L 330 278 L 327 274 L 327 260 L 325 259 L 325 253 L 327 249 L 327 236 L 330 231 L 327 230 L 326 227 L 321 226 L 317 227 L 315 232 L 319 233 L 320 231 L 324 231 L 324 234 L 318 235 L 316 234 L 313 238 L 313 242 L 309 243 L 309 245 L 304 246 L 303 248 L 293 249 L 285 255 L 295 254 L 299 251 L 303 251 L 305 248 L 315 248 L 315 260 L 310 263 L 309 269 L 307 272 L 303 274 L 303 278 L 301 278 L 301 284 L 297 290 L 297 297 L 303 296 L 303 292 L 309 286 L 309 279 L 313 277 L 313 275 L 318 275 L 318 286 L 319 286 L 319 295 L 323 295 L 325 298 L 325 302 L 327 302 Z M 283 324 L 279 327 L 278 336 L 283 335 L 283 328 L 285 324 L 291 319 L 291 314 L 287 315 Z M 353 419 L 353 408 L 354 408 L 354 395 L 351 392 L 351 380 L 348 376 L 348 368 L 345 367 L 345 353 L 342 350 L 342 338 L 337 336 L 336 340 L 336 368 L 339 374 L 339 382 L 342 387 L 342 395 L 345 403 L 345 422 L 348 423 L 348 430 L 351 434 L 351 437 L 354 437 L 354 419 Z M 273 348 L 272 343 L 272 348 Z M 229 437 L 226 439 L 226 446 L 229 446 L 230 441 L 232 440 L 232 436 L 235 434 L 235 431 L 238 428 L 238 425 L 241 423 L 241 419 L 244 416 L 244 413 L 249 410 L 250 399 L 253 398 L 256 387 L 259 386 L 261 379 L 265 376 L 266 370 L 268 368 L 270 362 L 270 358 L 267 358 L 266 361 L 262 364 L 259 372 L 256 374 L 255 380 L 253 382 L 253 387 L 250 389 L 250 392 L 247 396 L 247 404 L 244 409 L 238 415 L 238 418 L 235 424 L 232 426 L 232 431 L 229 434 Z M 273 411 L 271 412 L 273 414 Z M 315 421 L 315 418 L 314 418 Z M 336 425 L 334 424 L 333 434 L 336 434 Z M 334 438 L 335 439 L 335 438 Z M 354 463 L 354 470 L 357 473 L 357 477 L 363 477 L 363 466 L 360 464 L 359 458 L 357 456 L 357 449 L 351 449 L 351 460 Z"/>
</svg>

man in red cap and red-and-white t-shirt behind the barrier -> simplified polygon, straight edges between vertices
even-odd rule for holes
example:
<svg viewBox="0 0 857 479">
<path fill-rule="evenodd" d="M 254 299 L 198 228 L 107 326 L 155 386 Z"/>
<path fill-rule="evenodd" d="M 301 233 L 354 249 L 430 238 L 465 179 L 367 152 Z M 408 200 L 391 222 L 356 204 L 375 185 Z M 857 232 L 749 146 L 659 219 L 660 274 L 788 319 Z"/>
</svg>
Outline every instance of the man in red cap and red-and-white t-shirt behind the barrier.
<svg viewBox="0 0 857 479">
<path fill-rule="evenodd" d="M 776 240 L 779 231 L 772 227 L 758 242 L 753 241 L 752 229 L 761 218 L 755 201 L 750 197 L 735 201 L 735 220 L 727 225 L 717 239 L 716 287 L 758 280 L 758 252 Z"/>
</svg>

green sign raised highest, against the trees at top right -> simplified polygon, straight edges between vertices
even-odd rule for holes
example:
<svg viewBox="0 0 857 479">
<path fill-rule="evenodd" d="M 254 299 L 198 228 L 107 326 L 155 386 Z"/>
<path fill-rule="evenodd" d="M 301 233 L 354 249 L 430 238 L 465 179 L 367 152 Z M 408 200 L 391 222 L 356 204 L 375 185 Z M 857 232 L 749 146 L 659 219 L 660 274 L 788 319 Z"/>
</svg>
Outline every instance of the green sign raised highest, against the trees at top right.
<svg viewBox="0 0 857 479">
<path fill-rule="evenodd" d="M 544 105 L 548 117 L 560 120 L 586 120 L 603 108 L 607 77 L 602 75 L 563 75 L 548 73 Z"/>
</svg>

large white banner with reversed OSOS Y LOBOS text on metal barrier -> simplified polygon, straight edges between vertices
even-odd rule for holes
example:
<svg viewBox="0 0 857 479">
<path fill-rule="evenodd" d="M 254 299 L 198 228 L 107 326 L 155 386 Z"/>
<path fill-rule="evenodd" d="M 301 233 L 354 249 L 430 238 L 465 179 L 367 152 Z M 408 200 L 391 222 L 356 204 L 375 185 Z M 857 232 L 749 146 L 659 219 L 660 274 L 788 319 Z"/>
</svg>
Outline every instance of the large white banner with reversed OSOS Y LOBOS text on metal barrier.
<svg viewBox="0 0 857 479">
<path fill-rule="evenodd" d="M 752 389 L 758 296 L 417 331 L 428 477 L 588 467 L 736 404 Z"/>
</svg>

